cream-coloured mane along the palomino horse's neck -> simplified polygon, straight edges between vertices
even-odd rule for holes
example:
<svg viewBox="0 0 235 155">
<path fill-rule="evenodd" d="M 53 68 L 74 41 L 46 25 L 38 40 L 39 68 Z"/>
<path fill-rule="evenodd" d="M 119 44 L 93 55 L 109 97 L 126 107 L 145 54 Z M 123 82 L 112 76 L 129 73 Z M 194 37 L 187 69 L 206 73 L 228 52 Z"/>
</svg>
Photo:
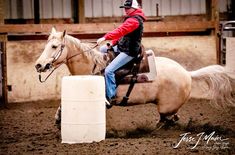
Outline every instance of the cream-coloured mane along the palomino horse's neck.
<svg viewBox="0 0 235 155">
<path fill-rule="evenodd" d="M 80 52 L 83 52 L 84 55 L 88 58 L 91 58 L 93 63 L 97 65 L 97 70 L 102 70 L 106 67 L 107 61 L 104 60 L 103 54 L 94 48 L 94 44 L 91 43 L 82 43 L 79 39 L 72 37 L 70 35 L 65 35 L 66 41 L 72 42 Z"/>
</svg>

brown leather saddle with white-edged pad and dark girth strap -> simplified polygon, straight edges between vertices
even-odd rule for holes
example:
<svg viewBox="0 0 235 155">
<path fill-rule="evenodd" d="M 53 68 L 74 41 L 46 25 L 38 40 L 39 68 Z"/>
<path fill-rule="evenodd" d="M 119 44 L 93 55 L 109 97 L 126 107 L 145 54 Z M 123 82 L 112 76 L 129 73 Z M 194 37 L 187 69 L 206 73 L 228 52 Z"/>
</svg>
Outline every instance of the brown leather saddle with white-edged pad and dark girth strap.
<svg viewBox="0 0 235 155">
<path fill-rule="evenodd" d="M 130 93 L 135 83 L 152 82 L 157 75 L 155 55 L 152 50 L 145 51 L 141 46 L 140 54 L 132 61 L 121 67 L 115 72 L 116 84 L 129 84 L 126 95 L 123 97 L 119 106 L 126 106 Z M 112 49 L 107 51 L 107 57 L 111 62 L 118 54 Z M 107 59 L 107 58 L 106 58 Z"/>
</svg>

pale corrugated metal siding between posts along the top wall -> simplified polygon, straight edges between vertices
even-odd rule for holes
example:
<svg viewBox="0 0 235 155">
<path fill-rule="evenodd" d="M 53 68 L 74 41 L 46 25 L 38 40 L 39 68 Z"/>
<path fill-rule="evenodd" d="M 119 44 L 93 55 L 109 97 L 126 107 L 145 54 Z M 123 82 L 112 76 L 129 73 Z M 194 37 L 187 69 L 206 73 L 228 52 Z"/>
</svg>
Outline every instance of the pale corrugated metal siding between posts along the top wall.
<svg viewBox="0 0 235 155">
<path fill-rule="evenodd" d="M 6 19 L 33 19 L 34 0 L 7 0 Z M 125 0 L 85 0 L 85 17 L 115 17 L 124 14 L 119 6 Z M 23 8 L 19 8 L 19 3 Z M 226 12 L 231 0 L 218 0 L 220 12 Z M 40 18 L 72 18 L 71 0 L 40 0 Z M 156 16 L 156 4 L 160 16 L 193 15 L 206 12 L 206 0 L 142 0 L 146 16 Z M 17 8 L 18 6 L 18 8 Z M 20 10 L 23 9 L 23 10 Z M 23 12 L 23 15 L 20 13 Z"/>
</svg>

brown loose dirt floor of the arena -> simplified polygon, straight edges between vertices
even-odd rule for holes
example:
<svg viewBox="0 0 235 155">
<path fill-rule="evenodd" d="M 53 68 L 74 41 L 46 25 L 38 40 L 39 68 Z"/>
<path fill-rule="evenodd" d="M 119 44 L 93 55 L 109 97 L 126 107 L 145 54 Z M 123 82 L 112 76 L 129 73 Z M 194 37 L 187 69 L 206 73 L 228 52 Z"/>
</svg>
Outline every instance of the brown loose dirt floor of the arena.
<svg viewBox="0 0 235 155">
<path fill-rule="evenodd" d="M 190 99 L 180 120 L 161 129 L 86 144 L 61 143 L 54 126 L 58 101 L 10 103 L 0 109 L 0 154 L 235 154 L 235 108 L 208 102 Z"/>
</svg>

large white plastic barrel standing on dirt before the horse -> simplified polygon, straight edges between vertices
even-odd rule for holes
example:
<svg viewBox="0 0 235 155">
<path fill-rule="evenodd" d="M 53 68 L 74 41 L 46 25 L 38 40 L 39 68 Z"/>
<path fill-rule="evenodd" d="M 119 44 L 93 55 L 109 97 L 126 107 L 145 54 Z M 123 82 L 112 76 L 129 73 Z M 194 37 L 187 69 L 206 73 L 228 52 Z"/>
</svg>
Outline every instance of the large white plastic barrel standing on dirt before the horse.
<svg viewBox="0 0 235 155">
<path fill-rule="evenodd" d="M 102 76 L 65 76 L 61 86 L 62 143 L 105 139 L 105 82 Z"/>
</svg>

